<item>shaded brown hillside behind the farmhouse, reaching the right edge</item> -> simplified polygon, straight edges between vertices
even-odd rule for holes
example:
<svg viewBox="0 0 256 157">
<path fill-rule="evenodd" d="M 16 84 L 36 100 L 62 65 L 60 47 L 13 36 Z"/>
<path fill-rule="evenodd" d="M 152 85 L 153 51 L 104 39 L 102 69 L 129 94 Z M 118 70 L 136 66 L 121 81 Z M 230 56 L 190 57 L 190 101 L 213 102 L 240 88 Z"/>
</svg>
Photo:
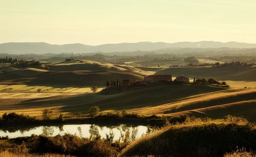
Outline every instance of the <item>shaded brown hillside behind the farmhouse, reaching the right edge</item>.
<svg viewBox="0 0 256 157">
<path fill-rule="evenodd" d="M 157 71 L 156 74 L 172 74 L 190 78 L 215 78 L 219 80 L 255 81 L 256 66 L 208 66 L 208 67 L 177 67 Z"/>
</svg>

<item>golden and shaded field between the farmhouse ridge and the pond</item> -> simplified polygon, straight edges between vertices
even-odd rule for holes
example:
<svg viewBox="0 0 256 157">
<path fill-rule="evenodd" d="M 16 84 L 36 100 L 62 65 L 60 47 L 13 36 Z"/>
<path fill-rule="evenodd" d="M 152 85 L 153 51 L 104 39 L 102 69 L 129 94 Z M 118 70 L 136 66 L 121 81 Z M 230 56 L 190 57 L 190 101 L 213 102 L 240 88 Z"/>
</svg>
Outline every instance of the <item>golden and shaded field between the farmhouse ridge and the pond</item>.
<svg viewBox="0 0 256 157">
<path fill-rule="evenodd" d="M 79 89 L 75 91 L 78 92 Z M 49 108 L 56 116 L 60 113 L 76 116 L 78 111 L 87 114 L 90 107 L 98 106 L 103 113 L 126 109 L 129 113 L 140 115 L 194 115 L 212 118 L 234 115 L 256 121 L 255 88 L 228 89 L 159 83 L 115 95 L 76 94 L 75 91 L 0 93 L 0 115 L 16 112 L 40 118 L 42 110 Z"/>
</svg>

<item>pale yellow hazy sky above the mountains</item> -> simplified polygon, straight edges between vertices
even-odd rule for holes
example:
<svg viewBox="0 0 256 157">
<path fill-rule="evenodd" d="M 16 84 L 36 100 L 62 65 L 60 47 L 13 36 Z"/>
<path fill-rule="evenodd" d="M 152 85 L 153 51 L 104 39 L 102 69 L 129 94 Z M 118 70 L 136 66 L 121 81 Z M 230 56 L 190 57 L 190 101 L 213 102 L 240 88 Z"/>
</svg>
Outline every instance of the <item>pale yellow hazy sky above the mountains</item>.
<svg viewBox="0 0 256 157">
<path fill-rule="evenodd" d="M 256 43 L 255 0 L 1 0 L 0 43 Z"/>
</svg>

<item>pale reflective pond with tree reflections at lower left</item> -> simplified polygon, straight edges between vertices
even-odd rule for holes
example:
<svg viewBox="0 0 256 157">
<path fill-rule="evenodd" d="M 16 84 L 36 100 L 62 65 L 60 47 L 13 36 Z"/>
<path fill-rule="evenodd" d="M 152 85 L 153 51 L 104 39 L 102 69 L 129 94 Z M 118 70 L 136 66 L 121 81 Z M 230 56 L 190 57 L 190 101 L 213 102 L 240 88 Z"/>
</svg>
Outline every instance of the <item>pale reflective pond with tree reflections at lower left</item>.
<svg viewBox="0 0 256 157">
<path fill-rule="evenodd" d="M 114 140 L 118 140 L 121 133 L 124 134 L 127 130 L 130 133 L 135 132 L 136 138 L 140 138 L 147 131 L 147 126 L 139 125 L 110 125 L 102 126 L 96 124 L 71 124 L 71 125 L 59 125 L 59 126 L 37 126 L 33 128 L 17 128 L 11 130 L 0 129 L 0 137 L 17 138 L 17 137 L 27 137 L 32 134 L 44 134 L 46 136 L 56 136 L 57 134 L 63 135 L 65 133 L 76 134 L 77 136 L 89 138 L 95 134 L 100 134 L 102 138 L 106 137 L 106 133 L 109 134 L 110 131 L 114 132 Z"/>
</svg>

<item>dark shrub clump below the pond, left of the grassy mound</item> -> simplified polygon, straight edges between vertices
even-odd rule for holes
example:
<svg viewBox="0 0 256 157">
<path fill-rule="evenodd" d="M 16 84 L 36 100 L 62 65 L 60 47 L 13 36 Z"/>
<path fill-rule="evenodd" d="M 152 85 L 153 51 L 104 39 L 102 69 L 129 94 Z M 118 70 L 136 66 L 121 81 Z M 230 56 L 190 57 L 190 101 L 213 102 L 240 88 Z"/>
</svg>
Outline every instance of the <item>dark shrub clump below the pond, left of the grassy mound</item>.
<svg viewBox="0 0 256 157">
<path fill-rule="evenodd" d="M 117 151 L 108 142 L 97 139 L 91 141 L 72 134 L 55 137 L 32 136 L 27 141 L 31 153 L 61 153 L 76 156 L 115 156 Z"/>
</svg>

